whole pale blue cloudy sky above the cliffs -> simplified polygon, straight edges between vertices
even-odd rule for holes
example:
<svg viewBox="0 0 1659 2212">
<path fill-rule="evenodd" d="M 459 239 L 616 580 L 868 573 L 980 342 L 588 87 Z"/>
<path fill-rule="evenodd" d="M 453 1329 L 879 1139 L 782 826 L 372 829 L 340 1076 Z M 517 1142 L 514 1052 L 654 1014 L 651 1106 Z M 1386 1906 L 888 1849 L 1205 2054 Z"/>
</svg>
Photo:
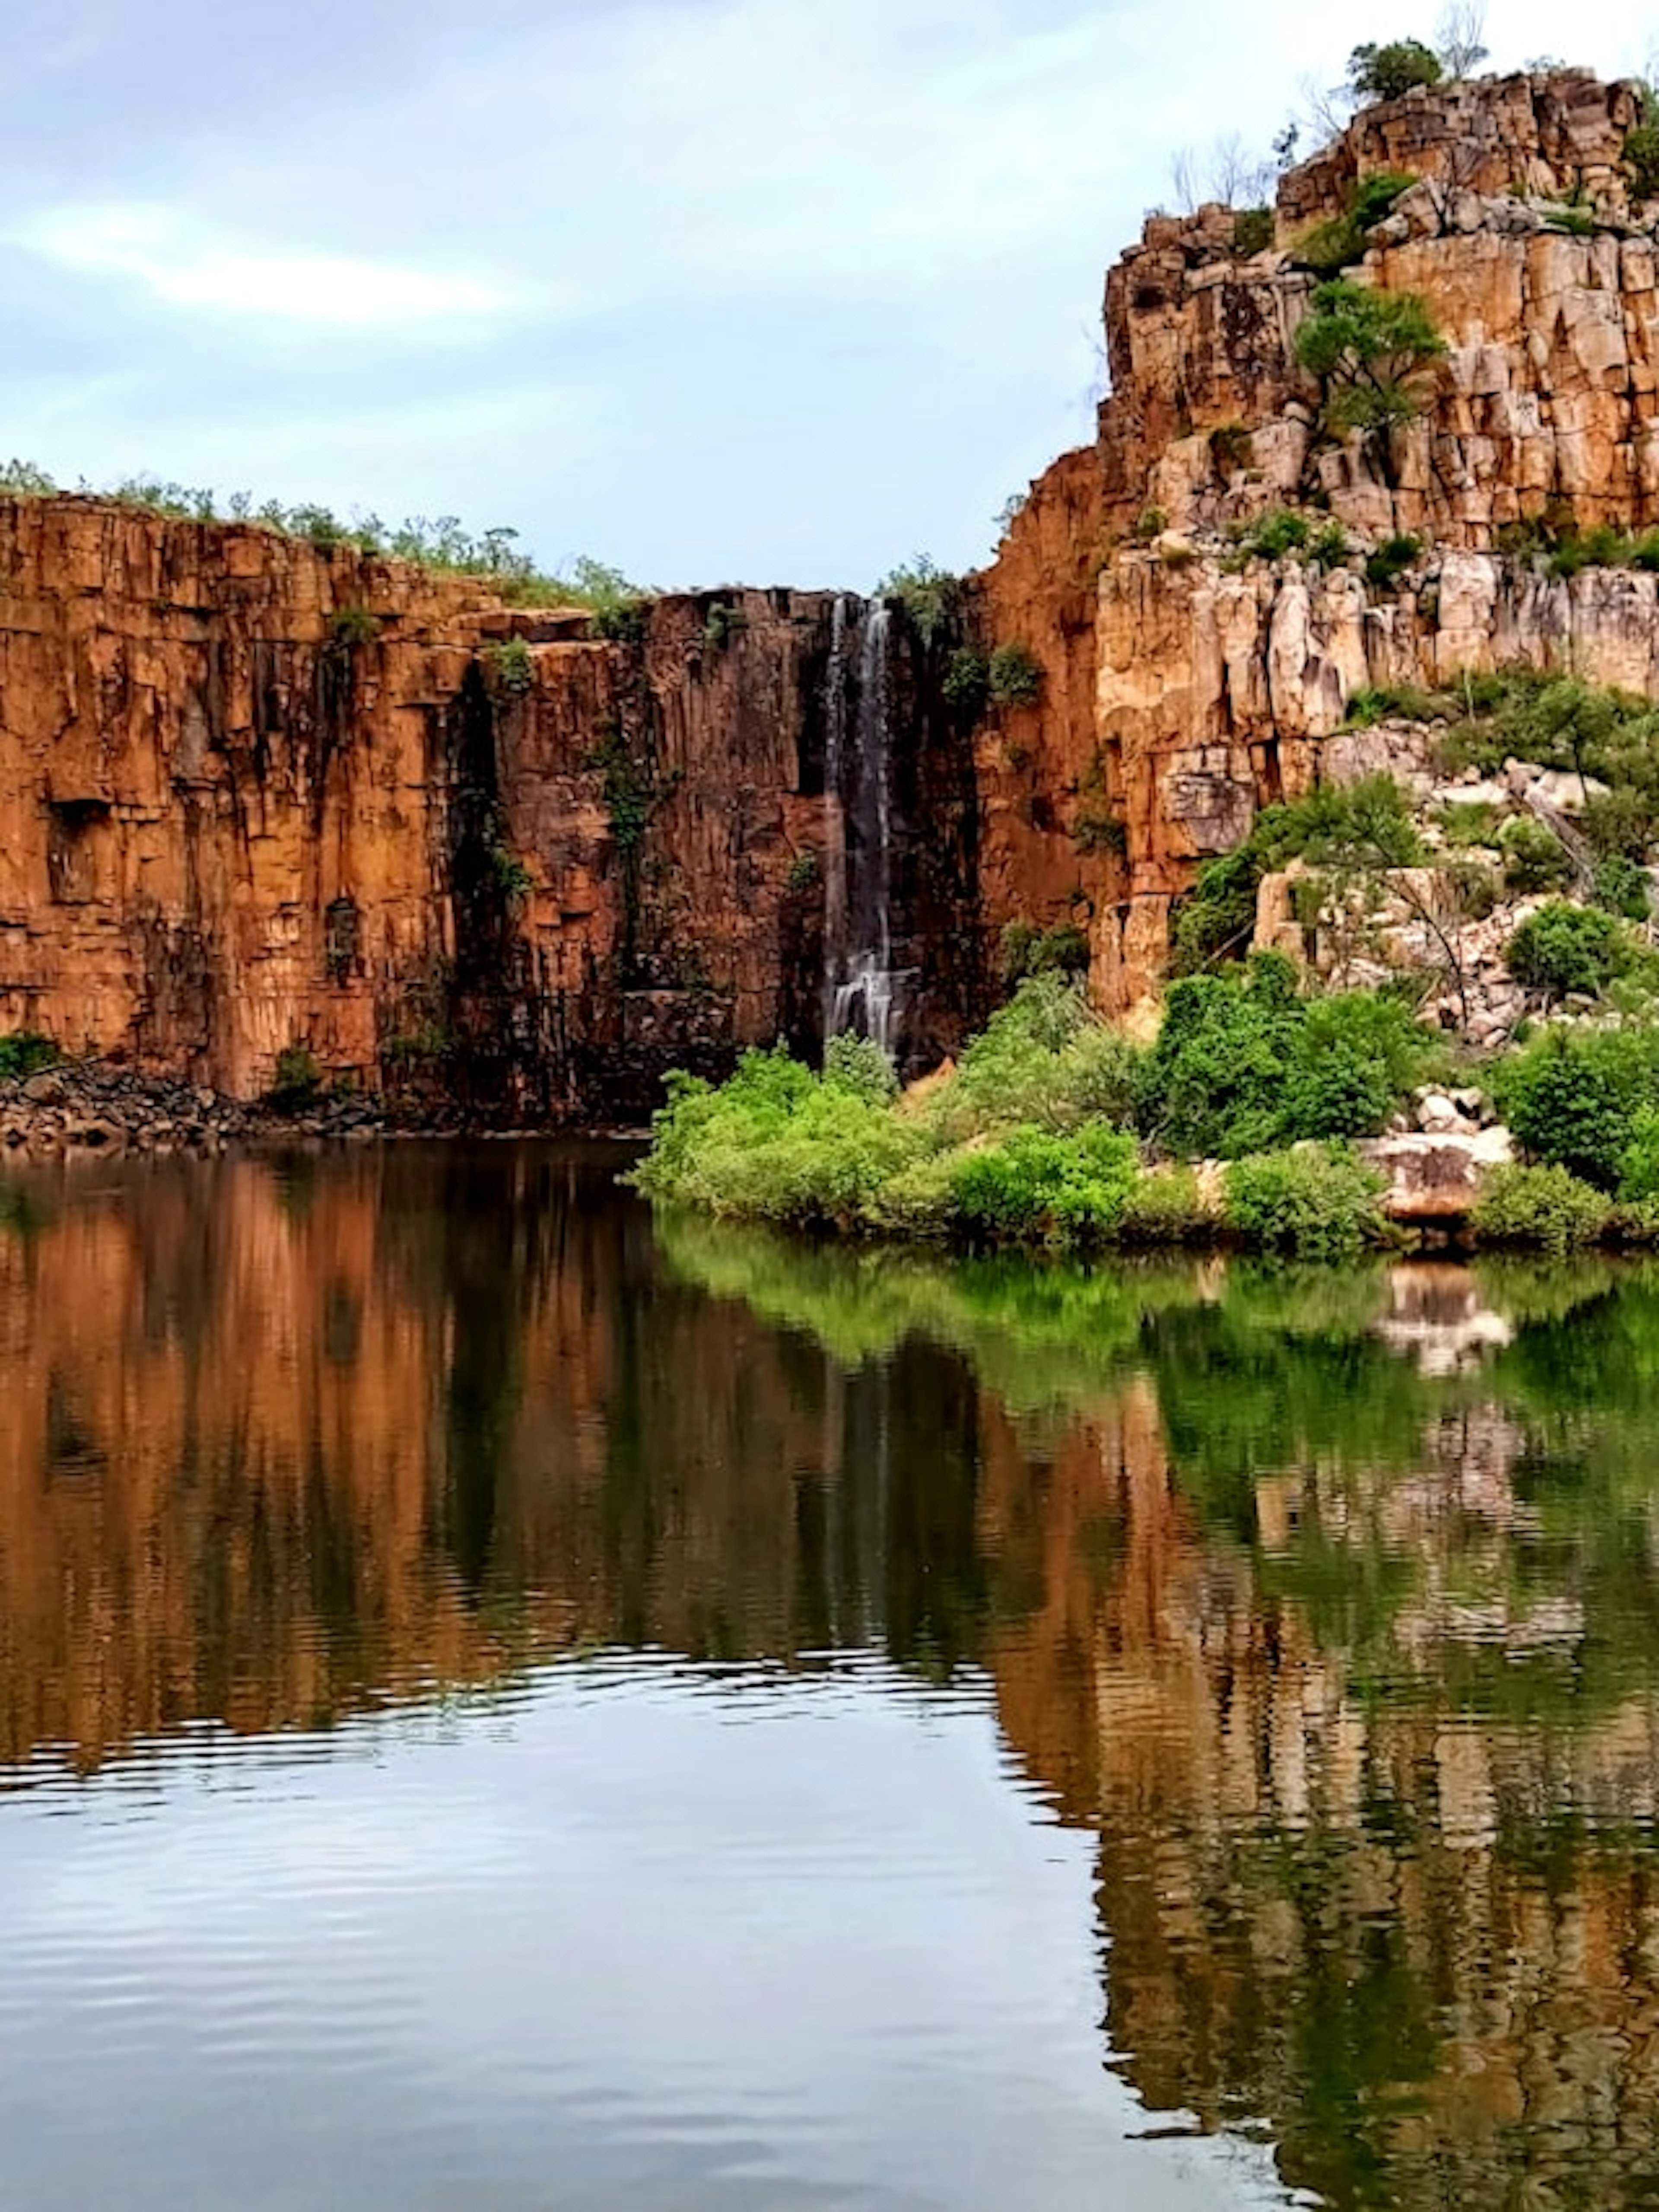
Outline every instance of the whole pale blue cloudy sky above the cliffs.
<svg viewBox="0 0 1659 2212">
<path fill-rule="evenodd" d="M 865 588 L 1093 436 L 1170 161 L 1440 0 L 2 0 L 0 456 Z M 1573 44 L 1562 40 L 1571 27 Z M 1608 75 L 1637 0 L 1491 0 Z"/>
</svg>

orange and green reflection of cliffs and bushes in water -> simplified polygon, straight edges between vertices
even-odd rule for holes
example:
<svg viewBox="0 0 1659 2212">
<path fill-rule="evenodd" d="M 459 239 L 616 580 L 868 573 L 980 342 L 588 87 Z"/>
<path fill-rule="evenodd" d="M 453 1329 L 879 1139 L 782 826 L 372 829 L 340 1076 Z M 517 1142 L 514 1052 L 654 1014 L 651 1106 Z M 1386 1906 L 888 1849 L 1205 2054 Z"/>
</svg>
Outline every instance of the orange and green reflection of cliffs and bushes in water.
<svg viewBox="0 0 1659 2212">
<path fill-rule="evenodd" d="M 1659 1274 L 945 1267 L 613 1170 L 9 1188 L 13 1781 L 597 1644 L 980 1663 L 1152 2110 L 1336 2203 L 1646 2201 Z"/>
</svg>

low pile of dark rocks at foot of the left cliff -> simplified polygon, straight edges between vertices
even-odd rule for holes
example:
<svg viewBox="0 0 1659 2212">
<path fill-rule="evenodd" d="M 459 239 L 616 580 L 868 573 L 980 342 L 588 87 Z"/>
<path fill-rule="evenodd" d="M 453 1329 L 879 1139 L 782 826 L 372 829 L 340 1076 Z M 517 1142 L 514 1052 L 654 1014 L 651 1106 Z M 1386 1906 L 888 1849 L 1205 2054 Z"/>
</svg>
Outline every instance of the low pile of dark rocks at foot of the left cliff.
<svg viewBox="0 0 1659 2212">
<path fill-rule="evenodd" d="M 0 1082 L 0 1157 L 210 1157 L 232 1144 L 330 1137 L 365 1141 L 389 1128 L 380 1102 L 365 1095 L 330 1093 L 276 1110 L 100 1060 L 64 1060 L 35 1075 Z"/>
</svg>

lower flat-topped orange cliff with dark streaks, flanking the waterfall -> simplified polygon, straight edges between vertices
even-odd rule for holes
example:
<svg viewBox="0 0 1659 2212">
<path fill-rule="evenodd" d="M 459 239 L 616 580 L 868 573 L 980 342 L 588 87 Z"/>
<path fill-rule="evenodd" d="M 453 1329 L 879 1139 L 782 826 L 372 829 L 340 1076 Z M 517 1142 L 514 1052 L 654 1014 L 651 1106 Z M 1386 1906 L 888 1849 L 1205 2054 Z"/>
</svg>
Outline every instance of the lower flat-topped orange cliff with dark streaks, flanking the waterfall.
<svg viewBox="0 0 1659 2212">
<path fill-rule="evenodd" d="M 580 1119 L 810 1042 L 832 619 L 670 597 L 606 639 L 345 546 L 0 502 L 0 1026 L 243 1095 L 303 1051 Z M 971 776 L 902 650 L 894 688 L 898 956 L 947 947 L 911 1024 L 942 1046 Z"/>
</svg>

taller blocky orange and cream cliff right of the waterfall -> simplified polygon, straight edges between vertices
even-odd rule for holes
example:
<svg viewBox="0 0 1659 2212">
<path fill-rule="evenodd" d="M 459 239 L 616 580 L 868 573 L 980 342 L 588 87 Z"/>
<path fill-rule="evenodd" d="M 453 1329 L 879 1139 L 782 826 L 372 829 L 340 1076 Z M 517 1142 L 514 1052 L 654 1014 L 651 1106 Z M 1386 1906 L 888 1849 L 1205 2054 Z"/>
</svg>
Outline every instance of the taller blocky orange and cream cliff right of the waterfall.
<svg viewBox="0 0 1659 2212">
<path fill-rule="evenodd" d="M 1033 863 L 989 816 L 991 920 L 1082 898 L 1102 1004 L 1157 984 L 1170 900 L 1334 765 L 1358 688 L 1526 666 L 1659 697 L 1652 580 L 1557 580 L 1533 553 L 1540 529 L 1659 520 L 1659 208 L 1624 159 L 1639 119 L 1639 88 L 1582 71 L 1418 91 L 1290 170 L 1270 215 L 1152 217 L 1113 270 L 1099 440 L 1033 487 L 982 580 L 993 626 L 1046 666 L 1029 812 L 1053 832 Z M 1367 440 L 1321 431 L 1296 332 L 1321 281 L 1310 232 L 1376 177 L 1391 206 L 1347 279 L 1418 296 L 1444 356 L 1416 420 Z M 1252 524 L 1285 509 L 1340 551 L 1254 557 Z M 1367 582 L 1367 553 L 1407 535 L 1405 575 Z"/>
</svg>

